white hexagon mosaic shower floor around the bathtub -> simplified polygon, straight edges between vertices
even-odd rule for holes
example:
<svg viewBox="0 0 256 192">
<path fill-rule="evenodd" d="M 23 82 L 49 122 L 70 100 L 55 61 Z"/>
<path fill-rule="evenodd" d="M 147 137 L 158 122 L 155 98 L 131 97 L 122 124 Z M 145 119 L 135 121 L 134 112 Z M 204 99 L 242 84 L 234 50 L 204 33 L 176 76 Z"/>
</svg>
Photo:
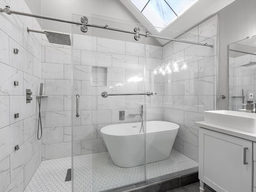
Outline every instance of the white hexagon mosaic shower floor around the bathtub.
<svg viewBox="0 0 256 192">
<path fill-rule="evenodd" d="M 170 174 L 198 166 L 194 160 L 172 149 L 168 159 L 147 164 L 147 178 Z M 42 161 L 24 192 L 71 192 L 65 182 L 71 157 Z M 144 165 L 116 166 L 108 152 L 74 157 L 74 191 L 100 192 L 144 181 Z"/>
</svg>

